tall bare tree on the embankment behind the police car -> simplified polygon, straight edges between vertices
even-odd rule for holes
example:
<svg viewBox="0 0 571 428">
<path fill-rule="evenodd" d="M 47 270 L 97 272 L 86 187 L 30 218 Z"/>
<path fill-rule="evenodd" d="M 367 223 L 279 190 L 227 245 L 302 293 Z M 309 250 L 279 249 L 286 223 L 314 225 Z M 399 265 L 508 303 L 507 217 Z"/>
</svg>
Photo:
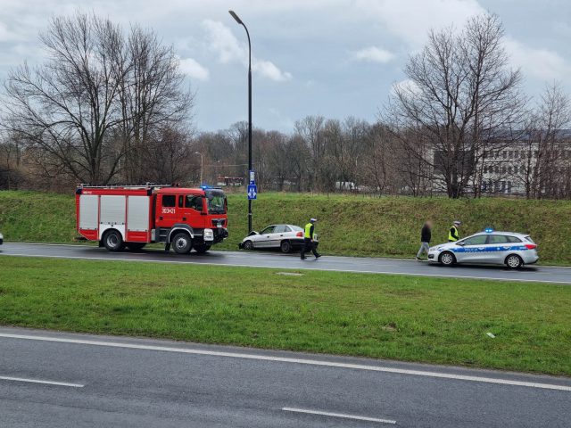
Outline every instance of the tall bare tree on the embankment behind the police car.
<svg viewBox="0 0 571 428">
<path fill-rule="evenodd" d="M 404 138 L 402 143 L 441 178 L 452 198 L 466 193 L 487 145 L 499 141 L 492 137 L 522 118 L 521 75 L 509 70 L 502 37 L 501 22 L 490 14 L 472 18 L 458 34 L 433 30 L 405 67 L 408 84 L 393 86 L 388 118 L 395 136 L 418 128 L 428 151 Z"/>
</svg>

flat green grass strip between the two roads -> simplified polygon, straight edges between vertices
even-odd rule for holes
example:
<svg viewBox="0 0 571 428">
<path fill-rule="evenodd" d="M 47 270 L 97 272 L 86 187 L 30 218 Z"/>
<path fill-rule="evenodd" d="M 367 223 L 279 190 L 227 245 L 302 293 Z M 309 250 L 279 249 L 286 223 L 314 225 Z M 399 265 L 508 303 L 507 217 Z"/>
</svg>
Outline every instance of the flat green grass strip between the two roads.
<svg viewBox="0 0 571 428">
<path fill-rule="evenodd" d="M 0 272 L 2 325 L 571 375 L 565 285 L 7 256 Z"/>
</svg>

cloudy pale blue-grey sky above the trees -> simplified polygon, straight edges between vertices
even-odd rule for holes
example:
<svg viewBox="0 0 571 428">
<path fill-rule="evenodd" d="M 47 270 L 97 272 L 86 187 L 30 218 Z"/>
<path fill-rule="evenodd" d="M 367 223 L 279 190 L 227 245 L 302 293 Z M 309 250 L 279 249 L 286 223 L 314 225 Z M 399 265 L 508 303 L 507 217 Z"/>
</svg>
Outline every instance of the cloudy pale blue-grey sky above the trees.
<svg viewBox="0 0 571 428">
<path fill-rule="evenodd" d="M 246 119 L 246 38 L 252 36 L 254 125 L 289 131 L 309 114 L 375 120 L 410 53 L 430 28 L 485 11 L 506 29 L 506 49 L 529 95 L 559 80 L 571 92 L 569 0 L 0 0 L 0 77 L 42 61 L 37 34 L 50 17 L 94 11 L 137 22 L 172 44 L 196 91 L 194 125 Z"/>
</svg>

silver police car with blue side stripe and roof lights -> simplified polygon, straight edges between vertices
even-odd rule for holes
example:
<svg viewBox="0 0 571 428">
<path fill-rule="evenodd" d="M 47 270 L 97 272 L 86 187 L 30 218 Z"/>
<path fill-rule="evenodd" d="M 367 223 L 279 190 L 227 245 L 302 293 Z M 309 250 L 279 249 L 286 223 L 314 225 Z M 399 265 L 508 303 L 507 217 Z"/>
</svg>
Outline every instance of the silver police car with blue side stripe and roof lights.
<svg viewBox="0 0 571 428">
<path fill-rule="evenodd" d="M 491 228 L 455 243 L 436 245 L 428 251 L 428 261 L 444 266 L 455 263 L 486 263 L 505 264 L 508 268 L 517 269 L 533 264 L 538 259 L 537 244 L 529 235 L 496 232 Z"/>
</svg>

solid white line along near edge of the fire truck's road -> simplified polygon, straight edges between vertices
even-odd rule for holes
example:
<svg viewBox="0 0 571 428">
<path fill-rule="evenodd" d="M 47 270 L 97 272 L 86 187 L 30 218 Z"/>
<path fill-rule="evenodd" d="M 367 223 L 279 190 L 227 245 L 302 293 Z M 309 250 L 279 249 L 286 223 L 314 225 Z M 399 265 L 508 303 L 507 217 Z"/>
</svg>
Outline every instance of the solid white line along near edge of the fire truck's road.
<svg viewBox="0 0 571 428">
<path fill-rule="evenodd" d="M 95 248 L 95 247 L 94 247 Z M 129 254 L 130 256 L 131 254 Z M 330 268 L 325 267 L 310 267 L 307 263 L 292 266 L 274 266 L 274 265 L 253 265 L 246 263 L 232 263 L 226 261 L 185 261 L 185 260 L 158 260 L 158 259 L 113 259 L 110 257 L 87 257 L 87 256 L 57 256 L 46 254 L 22 254 L 22 253 L 2 253 L 0 256 L 14 256 L 14 257 L 37 257 L 42 259 L 80 259 L 80 260 L 104 260 L 104 261 L 135 261 L 138 263 L 170 263 L 179 265 L 192 265 L 192 266 L 228 266 L 234 268 L 268 268 L 268 269 L 302 269 L 302 270 L 315 270 L 323 272 L 351 272 L 355 274 L 377 274 L 377 275 L 405 275 L 405 276 L 421 276 L 421 277 L 436 277 L 436 278 L 460 278 L 460 279 L 479 279 L 484 281 L 508 281 L 512 283 L 546 283 L 546 284 L 571 284 L 568 281 L 551 281 L 545 279 L 522 279 L 522 278 L 504 278 L 493 276 L 460 276 L 460 275 L 447 275 L 447 274 L 415 274 L 410 272 L 393 272 L 385 270 L 358 270 L 358 269 L 344 269 L 344 268 Z M 318 262 L 319 263 L 319 262 Z"/>
</svg>

